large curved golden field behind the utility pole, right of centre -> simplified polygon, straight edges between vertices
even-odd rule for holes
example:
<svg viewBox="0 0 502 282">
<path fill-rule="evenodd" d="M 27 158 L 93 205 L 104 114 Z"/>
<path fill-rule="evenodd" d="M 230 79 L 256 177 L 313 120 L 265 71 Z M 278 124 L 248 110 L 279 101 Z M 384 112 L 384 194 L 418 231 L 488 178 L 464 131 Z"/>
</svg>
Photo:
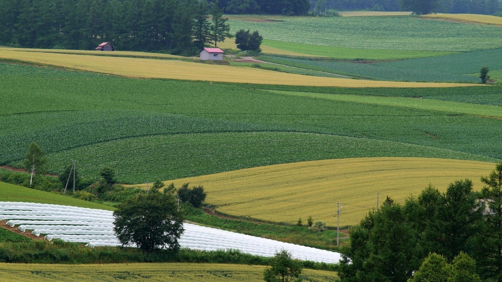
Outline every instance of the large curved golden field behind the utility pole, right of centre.
<svg viewBox="0 0 502 282">
<path fill-rule="evenodd" d="M 418 195 L 432 184 L 445 191 L 448 184 L 487 176 L 492 163 L 429 158 L 355 158 L 311 161 L 243 169 L 166 181 L 176 187 L 203 185 L 206 203 L 218 211 L 262 220 L 295 223 L 299 217 L 336 226 L 336 202 L 344 203 L 340 225 L 354 225 L 372 208 L 376 193 L 398 202 Z"/>
</svg>

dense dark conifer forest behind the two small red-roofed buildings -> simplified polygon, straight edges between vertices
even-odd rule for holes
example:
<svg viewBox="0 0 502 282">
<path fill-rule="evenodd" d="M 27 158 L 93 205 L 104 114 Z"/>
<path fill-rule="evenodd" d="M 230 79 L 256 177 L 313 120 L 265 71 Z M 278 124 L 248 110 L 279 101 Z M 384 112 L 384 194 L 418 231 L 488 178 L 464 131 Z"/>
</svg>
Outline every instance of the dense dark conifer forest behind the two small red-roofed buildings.
<svg viewBox="0 0 502 282">
<path fill-rule="evenodd" d="M 222 15 L 205 0 L 4 0 L 0 45 L 93 50 L 110 42 L 189 55 L 229 35 Z"/>
</svg>

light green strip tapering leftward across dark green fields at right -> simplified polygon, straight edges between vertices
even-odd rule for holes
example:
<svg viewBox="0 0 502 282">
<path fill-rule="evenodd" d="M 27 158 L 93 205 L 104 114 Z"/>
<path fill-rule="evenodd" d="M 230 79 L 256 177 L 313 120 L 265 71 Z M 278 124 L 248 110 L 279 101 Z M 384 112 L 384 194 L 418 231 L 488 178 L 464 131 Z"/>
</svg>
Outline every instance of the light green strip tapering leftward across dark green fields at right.
<svg viewBox="0 0 502 282">
<path fill-rule="evenodd" d="M 479 116 L 502 117 L 502 107 L 492 105 L 476 105 L 452 101 L 440 101 L 433 99 L 408 98 L 408 97 L 381 97 L 381 96 L 361 96 L 350 94 L 324 94 L 310 92 L 292 92 L 269 90 L 270 92 L 301 97 L 313 97 L 335 101 L 346 101 L 365 103 L 373 105 L 386 105 L 407 107 L 421 110 L 434 110 L 452 112 L 459 114 L 470 114 Z"/>
</svg>

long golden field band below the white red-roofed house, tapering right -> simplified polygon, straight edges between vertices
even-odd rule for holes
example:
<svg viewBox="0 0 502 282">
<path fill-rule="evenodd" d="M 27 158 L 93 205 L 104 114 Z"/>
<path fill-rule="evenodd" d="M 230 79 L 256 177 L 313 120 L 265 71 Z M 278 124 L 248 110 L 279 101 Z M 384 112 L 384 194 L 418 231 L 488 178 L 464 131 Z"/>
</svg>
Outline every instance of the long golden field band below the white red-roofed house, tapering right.
<svg viewBox="0 0 502 282">
<path fill-rule="evenodd" d="M 97 51 L 96 51 L 97 52 Z M 110 56 L 0 50 L 0 60 L 57 66 L 136 78 L 337 87 L 457 87 L 484 84 L 371 81 L 307 76 L 256 68 Z"/>
</svg>

